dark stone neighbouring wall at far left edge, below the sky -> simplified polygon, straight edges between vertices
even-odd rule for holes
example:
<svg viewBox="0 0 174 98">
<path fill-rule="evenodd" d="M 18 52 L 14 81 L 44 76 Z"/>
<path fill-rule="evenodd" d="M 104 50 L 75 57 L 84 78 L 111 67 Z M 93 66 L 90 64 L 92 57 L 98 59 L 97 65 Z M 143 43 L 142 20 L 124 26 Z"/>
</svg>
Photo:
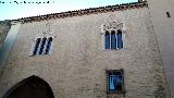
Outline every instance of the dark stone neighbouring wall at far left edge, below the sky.
<svg viewBox="0 0 174 98">
<path fill-rule="evenodd" d="M 11 24 L 9 22 L 0 21 L 0 47 L 4 41 L 8 32 L 10 30 Z"/>
</svg>

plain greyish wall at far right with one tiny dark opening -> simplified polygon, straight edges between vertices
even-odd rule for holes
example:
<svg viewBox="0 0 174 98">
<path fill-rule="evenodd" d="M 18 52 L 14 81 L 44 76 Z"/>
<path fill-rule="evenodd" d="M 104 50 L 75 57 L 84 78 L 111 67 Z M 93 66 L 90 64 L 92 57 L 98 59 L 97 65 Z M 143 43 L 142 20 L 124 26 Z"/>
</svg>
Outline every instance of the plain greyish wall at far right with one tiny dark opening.
<svg viewBox="0 0 174 98">
<path fill-rule="evenodd" d="M 171 98 L 174 98 L 174 0 L 147 0 L 162 57 Z M 166 12 L 171 17 L 167 17 Z"/>
</svg>

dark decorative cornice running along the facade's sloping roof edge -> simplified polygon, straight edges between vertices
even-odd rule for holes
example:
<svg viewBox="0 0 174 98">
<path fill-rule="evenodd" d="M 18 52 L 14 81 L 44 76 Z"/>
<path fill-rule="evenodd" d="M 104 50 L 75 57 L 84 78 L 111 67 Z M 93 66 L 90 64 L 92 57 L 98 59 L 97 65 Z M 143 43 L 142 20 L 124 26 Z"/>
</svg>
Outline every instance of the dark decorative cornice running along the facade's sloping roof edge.
<svg viewBox="0 0 174 98">
<path fill-rule="evenodd" d="M 148 7 L 147 1 L 123 3 L 123 4 L 116 4 L 116 5 L 100 7 L 100 8 L 90 8 L 90 9 L 84 9 L 84 10 L 67 11 L 67 12 L 30 16 L 30 17 L 22 17 L 22 19 L 12 20 L 12 21 L 21 22 L 21 23 L 32 23 L 32 22 L 52 20 L 52 19 L 64 19 L 64 17 L 72 17 L 72 16 L 123 11 L 123 10 L 128 10 L 128 9 L 139 9 L 144 7 Z"/>
</svg>

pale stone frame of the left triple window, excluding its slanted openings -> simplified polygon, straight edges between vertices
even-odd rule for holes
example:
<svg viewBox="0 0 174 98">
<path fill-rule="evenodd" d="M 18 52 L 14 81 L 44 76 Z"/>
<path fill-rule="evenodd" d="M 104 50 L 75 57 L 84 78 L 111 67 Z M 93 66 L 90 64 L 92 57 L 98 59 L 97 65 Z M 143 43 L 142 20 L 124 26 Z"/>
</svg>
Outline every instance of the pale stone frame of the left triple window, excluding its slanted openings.
<svg viewBox="0 0 174 98">
<path fill-rule="evenodd" d="M 45 37 L 47 38 L 46 44 L 45 44 L 45 46 L 44 46 L 45 48 L 44 48 L 42 53 L 39 54 L 41 41 L 42 41 L 42 38 L 45 38 Z M 32 42 L 32 48 L 30 48 L 30 50 L 29 50 L 29 56 L 30 56 L 30 57 L 35 57 L 35 56 L 46 56 L 46 54 L 45 54 L 45 52 L 46 52 L 46 47 L 47 47 L 47 44 L 48 44 L 48 39 L 49 39 L 50 37 L 52 38 L 52 41 L 51 41 L 51 46 L 50 46 L 49 52 L 48 52 L 47 54 L 51 54 L 51 53 L 52 53 L 52 46 L 53 46 L 53 36 L 38 36 L 38 37 L 35 37 L 34 41 Z M 35 49 L 36 41 L 37 41 L 38 38 L 41 38 L 41 40 L 40 40 L 40 42 L 39 42 L 39 47 L 38 47 L 37 53 L 34 54 L 34 49 Z"/>
</svg>

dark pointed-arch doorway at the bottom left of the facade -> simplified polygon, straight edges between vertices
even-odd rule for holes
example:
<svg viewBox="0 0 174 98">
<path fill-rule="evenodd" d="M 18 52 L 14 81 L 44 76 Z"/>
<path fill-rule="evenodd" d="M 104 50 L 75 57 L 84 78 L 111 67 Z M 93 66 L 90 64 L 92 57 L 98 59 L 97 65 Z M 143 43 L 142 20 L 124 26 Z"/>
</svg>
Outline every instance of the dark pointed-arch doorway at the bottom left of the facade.
<svg viewBox="0 0 174 98">
<path fill-rule="evenodd" d="M 14 85 L 3 98 L 54 98 L 54 96 L 47 82 L 33 75 Z"/>
</svg>

